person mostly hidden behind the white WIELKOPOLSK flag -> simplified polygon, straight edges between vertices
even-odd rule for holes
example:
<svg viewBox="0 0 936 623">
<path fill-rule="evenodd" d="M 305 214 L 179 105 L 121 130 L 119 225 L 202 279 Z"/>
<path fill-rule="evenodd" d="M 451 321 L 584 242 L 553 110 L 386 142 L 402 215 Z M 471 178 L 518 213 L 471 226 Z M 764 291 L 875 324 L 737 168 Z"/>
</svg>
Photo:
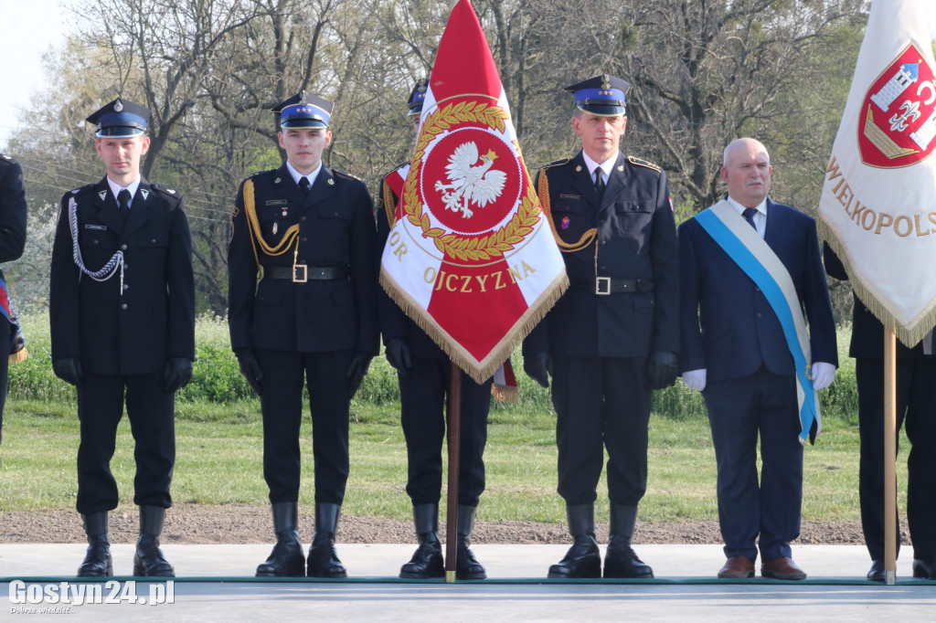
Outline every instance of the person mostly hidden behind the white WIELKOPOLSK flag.
<svg viewBox="0 0 936 623">
<path fill-rule="evenodd" d="M 826 272 L 842 281 L 848 273 L 826 244 Z M 858 385 L 861 458 L 858 497 L 861 528 L 871 557 L 868 579 L 885 581 L 884 564 L 884 326 L 858 297 L 852 312 L 852 342 Z M 907 523 L 914 543 L 914 577 L 936 580 L 936 356 L 933 332 L 913 348 L 897 342 L 897 428 L 906 425 L 912 448 L 907 459 Z M 897 539 L 900 547 L 899 530 Z"/>
</svg>

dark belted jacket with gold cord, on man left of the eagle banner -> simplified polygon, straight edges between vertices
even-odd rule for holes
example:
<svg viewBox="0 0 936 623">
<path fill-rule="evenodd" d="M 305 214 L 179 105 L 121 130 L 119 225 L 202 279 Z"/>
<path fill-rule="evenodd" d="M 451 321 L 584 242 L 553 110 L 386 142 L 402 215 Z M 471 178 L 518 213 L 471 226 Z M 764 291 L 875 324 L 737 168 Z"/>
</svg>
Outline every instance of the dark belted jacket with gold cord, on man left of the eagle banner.
<svg viewBox="0 0 936 623">
<path fill-rule="evenodd" d="M 291 225 L 299 225 L 298 254 L 295 242 L 279 255 L 256 246 L 265 274 L 274 267 L 291 270 L 295 261 L 307 265 L 310 273 L 314 268 L 346 268 L 348 278 L 294 283 L 268 277 L 257 282 L 255 245 L 244 209 L 247 180 L 254 181 L 256 217 L 267 244 L 275 248 Z M 376 234 L 364 182 L 323 164 L 304 197 L 285 163 L 247 180 L 235 199 L 227 257 L 231 347 L 376 355 Z"/>
</svg>

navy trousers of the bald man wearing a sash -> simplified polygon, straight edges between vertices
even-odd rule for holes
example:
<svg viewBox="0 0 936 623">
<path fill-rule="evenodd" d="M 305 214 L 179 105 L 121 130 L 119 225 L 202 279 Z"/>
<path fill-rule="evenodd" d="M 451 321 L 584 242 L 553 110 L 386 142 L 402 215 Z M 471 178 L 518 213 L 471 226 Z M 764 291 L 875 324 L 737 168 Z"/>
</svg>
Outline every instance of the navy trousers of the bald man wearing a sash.
<svg viewBox="0 0 936 623">
<path fill-rule="evenodd" d="M 756 560 L 758 535 L 762 560 L 789 557 L 790 542 L 799 536 L 803 499 L 796 379 L 762 366 L 751 376 L 709 382 L 702 395 L 718 463 L 725 557 Z"/>
</svg>

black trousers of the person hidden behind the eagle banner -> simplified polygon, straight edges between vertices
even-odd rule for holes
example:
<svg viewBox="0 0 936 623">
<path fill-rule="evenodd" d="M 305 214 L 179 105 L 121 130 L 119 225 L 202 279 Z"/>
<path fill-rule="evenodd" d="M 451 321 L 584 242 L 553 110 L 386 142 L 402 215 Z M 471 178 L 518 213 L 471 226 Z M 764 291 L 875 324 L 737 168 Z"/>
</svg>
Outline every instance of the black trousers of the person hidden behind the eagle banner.
<svg viewBox="0 0 936 623">
<path fill-rule="evenodd" d="M 448 360 L 415 356 L 413 367 L 400 377 L 401 423 L 409 461 L 406 493 L 413 504 L 435 504 L 441 497 L 442 443 L 446 437 L 446 395 L 451 368 Z M 459 504 L 463 506 L 477 506 L 484 491 L 490 384 L 491 379 L 476 384 L 461 372 Z"/>
</svg>

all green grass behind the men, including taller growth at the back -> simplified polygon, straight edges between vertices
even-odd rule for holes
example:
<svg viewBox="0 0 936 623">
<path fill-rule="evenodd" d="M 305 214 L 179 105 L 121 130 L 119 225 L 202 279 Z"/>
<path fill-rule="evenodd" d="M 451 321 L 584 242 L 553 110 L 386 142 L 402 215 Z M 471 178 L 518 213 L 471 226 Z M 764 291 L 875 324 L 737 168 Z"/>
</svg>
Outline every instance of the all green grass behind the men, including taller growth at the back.
<svg viewBox="0 0 936 623">
<path fill-rule="evenodd" d="M 23 319 L 31 358 L 10 371 L 0 464 L 0 510 L 73 509 L 79 426 L 75 391 L 55 379 L 49 360 L 48 321 Z M 806 521 L 858 519 L 858 433 L 854 362 L 847 358 L 847 328 L 839 345 L 842 367 L 822 392 L 824 432 L 807 446 L 803 495 Z M 514 359 L 519 371 L 519 356 Z M 204 504 L 266 505 L 259 403 L 241 379 L 224 321 L 197 324 L 192 384 L 176 405 L 177 462 L 173 499 Z M 555 418 L 548 390 L 519 373 L 520 402 L 493 403 L 485 453 L 487 490 L 481 503 L 489 521 L 564 522 L 556 493 Z M 717 519 L 715 456 L 705 405 L 678 383 L 657 392 L 650 427 L 647 495 L 640 517 L 651 522 Z M 303 419 L 300 501 L 313 502 L 312 429 Z M 906 453 L 901 433 L 899 508 L 906 498 Z M 133 439 L 125 418 L 111 463 L 121 504 L 132 503 Z M 406 446 L 393 370 L 374 359 L 351 407 L 351 475 L 344 513 L 408 519 Z M 607 518 L 607 485 L 599 484 L 598 517 Z"/>
</svg>

